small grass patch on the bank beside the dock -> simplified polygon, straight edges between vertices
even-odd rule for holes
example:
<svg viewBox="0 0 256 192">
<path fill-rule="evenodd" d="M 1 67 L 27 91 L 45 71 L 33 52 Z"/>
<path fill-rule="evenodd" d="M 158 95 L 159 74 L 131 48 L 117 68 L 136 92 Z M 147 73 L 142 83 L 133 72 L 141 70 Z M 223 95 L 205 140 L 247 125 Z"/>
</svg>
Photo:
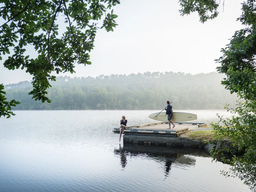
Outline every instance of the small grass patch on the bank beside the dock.
<svg viewBox="0 0 256 192">
<path fill-rule="evenodd" d="M 212 141 L 214 136 L 213 130 L 200 130 L 200 131 L 190 131 L 185 137 L 191 140 L 207 140 Z"/>
</svg>

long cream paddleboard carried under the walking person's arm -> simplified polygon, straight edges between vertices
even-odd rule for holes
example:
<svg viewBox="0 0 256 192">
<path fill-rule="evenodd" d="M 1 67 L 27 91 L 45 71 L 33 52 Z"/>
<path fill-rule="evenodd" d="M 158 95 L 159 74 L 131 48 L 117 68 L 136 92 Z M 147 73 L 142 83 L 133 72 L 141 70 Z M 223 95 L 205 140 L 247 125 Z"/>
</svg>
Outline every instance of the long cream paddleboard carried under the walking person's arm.
<svg viewBox="0 0 256 192">
<path fill-rule="evenodd" d="M 150 114 L 148 117 L 154 120 L 158 121 L 168 121 L 166 112 L 160 113 L 158 116 L 156 116 L 158 113 Z M 197 116 L 196 114 L 192 113 L 183 113 L 183 112 L 172 112 L 172 122 L 184 122 L 184 121 L 192 121 L 196 120 Z"/>
</svg>

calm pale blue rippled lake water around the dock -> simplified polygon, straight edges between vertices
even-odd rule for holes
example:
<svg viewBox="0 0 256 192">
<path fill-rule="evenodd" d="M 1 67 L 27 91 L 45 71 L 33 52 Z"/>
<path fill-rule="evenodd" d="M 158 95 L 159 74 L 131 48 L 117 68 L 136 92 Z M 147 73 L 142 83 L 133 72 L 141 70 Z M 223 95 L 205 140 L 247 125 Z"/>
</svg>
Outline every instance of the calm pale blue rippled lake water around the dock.
<svg viewBox="0 0 256 192">
<path fill-rule="evenodd" d="M 15 111 L 0 118 L 0 191 L 250 191 L 222 176 L 228 165 L 212 162 L 204 149 L 119 144 L 112 130 L 122 115 L 134 125 L 154 122 L 154 112 Z M 217 112 L 228 116 L 186 112 L 208 124 L 218 121 Z"/>
</svg>

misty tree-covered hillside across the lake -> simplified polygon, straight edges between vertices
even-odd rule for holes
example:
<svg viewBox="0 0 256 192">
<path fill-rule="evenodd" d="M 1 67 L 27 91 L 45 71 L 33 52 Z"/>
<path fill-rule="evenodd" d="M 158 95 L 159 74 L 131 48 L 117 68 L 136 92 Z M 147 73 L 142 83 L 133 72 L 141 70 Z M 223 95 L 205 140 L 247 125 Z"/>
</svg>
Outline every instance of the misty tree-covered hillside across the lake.
<svg viewBox="0 0 256 192">
<path fill-rule="evenodd" d="M 224 89 L 224 76 L 146 72 L 130 75 L 100 75 L 96 78 L 60 76 L 48 90 L 51 103 L 34 101 L 31 82 L 5 86 L 8 99 L 20 102 L 16 110 L 145 110 L 162 109 L 174 100 L 175 109 L 223 109 L 234 106 L 236 95 Z"/>
</svg>

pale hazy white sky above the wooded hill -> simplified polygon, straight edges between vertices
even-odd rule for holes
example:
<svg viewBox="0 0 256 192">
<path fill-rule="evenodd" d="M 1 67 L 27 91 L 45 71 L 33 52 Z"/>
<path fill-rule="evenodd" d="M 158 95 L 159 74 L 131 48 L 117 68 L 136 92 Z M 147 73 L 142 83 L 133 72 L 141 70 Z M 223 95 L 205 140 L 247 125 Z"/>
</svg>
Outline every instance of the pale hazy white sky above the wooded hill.
<svg viewBox="0 0 256 192">
<path fill-rule="evenodd" d="M 114 32 L 102 29 L 96 34 L 92 64 L 76 65 L 75 74 L 59 76 L 216 71 L 214 59 L 222 55 L 220 49 L 244 27 L 236 21 L 242 13 L 241 3 L 225 0 L 224 11 L 221 4 L 219 16 L 202 24 L 197 13 L 180 16 L 178 0 L 121 0 L 114 7 L 118 15 Z M 36 56 L 34 50 L 28 49 L 28 54 Z M 25 70 L 8 70 L 3 63 L 4 59 L 0 61 L 0 84 L 32 80 Z"/>
</svg>

